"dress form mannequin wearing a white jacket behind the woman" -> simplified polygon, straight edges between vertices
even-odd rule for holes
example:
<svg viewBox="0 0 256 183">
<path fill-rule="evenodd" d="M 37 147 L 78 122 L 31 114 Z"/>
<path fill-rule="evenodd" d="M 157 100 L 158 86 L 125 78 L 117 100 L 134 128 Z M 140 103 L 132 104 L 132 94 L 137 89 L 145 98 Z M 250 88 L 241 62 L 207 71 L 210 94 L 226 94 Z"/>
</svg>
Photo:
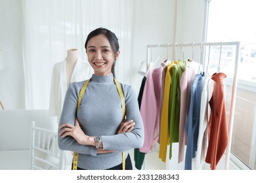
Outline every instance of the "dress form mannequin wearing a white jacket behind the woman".
<svg viewBox="0 0 256 183">
<path fill-rule="evenodd" d="M 79 51 L 75 48 L 68 49 L 66 58 L 63 61 L 54 64 L 52 80 L 51 80 L 51 94 L 49 113 L 51 116 L 57 116 L 57 123 L 60 120 L 62 106 L 66 91 L 68 90 L 70 82 L 81 82 L 87 80 L 93 75 L 91 65 L 85 63 L 79 57 Z M 57 144 L 55 144 L 57 145 Z M 71 170 L 73 154 L 69 151 L 62 151 L 62 169 Z M 54 157 L 47 156 L 47 159 Z M 51 169 L 51 167 L 45 167 Z"/>
</svg>

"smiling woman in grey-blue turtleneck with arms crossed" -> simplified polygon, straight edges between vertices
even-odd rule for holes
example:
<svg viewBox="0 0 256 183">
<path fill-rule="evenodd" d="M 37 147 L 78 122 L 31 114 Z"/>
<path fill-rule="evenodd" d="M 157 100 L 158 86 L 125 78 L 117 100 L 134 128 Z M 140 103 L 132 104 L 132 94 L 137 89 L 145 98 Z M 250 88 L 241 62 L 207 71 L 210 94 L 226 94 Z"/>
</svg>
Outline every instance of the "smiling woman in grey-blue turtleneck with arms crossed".
<svg viewBox="0 0 256 183">
<path fill-rule="evenodd" d="M 142 146 L 144 129 L 136 93 L 125 84 L 119 85 L 127 118 L 122 122 L 123 109 L 114 82 L 118 39 L 108 29 L 98 28 L 89 33 L 85 49 L 95 74 L 89 80 L 77 116 L 77 97 L 85 82 L 70 84 L 60 116 L 58 145 L 61 150 L 78 153 L 77 169 L 122 169 L 122 152 L 125 169 L 132 169 L 129 150 Z"/>
</svg>

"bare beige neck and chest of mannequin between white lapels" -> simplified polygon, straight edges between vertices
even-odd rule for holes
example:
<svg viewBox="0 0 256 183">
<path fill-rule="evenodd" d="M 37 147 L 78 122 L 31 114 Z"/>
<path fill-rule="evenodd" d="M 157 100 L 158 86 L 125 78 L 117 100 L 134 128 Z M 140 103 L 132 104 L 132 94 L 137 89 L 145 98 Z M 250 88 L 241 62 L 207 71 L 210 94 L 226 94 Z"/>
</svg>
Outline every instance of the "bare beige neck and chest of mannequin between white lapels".
<svg viewBox="0 0 256 183">
<path fill-rule="evenodd" d="M 67 50 L 67 57 L 66 57 L 66 80 L 67 85 L 70 84 L 71 76 L 75 68 L 75 63 L 79 58 L 79 52 L 77 49 L 69 49 Z"/>
</svg>

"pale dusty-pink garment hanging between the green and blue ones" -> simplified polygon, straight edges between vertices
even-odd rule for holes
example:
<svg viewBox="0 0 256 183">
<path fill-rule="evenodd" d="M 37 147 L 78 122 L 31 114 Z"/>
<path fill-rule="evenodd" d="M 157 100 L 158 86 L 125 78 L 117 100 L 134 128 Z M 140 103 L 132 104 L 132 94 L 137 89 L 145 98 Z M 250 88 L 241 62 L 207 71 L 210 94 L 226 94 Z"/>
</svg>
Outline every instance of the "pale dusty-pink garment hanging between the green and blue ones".
<svg viewBox="0 0 256 183">
<path fill-rule="evenodd" d="M 186 120 L 190 106 L 190 82 L 194 80 L 200 64 L 196 61 L 188 61 L 181 77 L 181 110 L 179 122 L 179 159 L 178 163 L 184 161 L 184 148 L 186 144 Z"/>
</svg>

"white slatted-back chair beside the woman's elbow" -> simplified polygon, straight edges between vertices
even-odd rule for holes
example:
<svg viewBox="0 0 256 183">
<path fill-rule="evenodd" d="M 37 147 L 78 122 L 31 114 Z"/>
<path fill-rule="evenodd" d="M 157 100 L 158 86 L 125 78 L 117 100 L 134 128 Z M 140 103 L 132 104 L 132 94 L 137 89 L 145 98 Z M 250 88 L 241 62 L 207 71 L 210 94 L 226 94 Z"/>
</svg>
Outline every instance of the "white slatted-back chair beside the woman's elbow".
<svg viewBox="0 0 256 183">
<path fill-rule="evenodd" d="M 56 132 L 36 127 L 32 122 L 30 161 L 31 169 L 60 170 L 62 169 L 62 150 L 58 148 Z"/>
</svg>

